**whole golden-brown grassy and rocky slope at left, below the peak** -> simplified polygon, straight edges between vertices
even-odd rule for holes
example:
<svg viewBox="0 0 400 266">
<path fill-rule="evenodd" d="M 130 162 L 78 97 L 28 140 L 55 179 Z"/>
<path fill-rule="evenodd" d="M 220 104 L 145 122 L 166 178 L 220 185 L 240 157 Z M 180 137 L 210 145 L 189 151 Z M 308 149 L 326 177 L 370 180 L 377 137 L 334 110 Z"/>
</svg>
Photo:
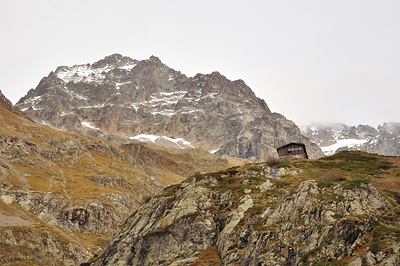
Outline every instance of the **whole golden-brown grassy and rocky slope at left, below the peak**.
<svg viewBox="0 0 400 266">
<path fill-rule="evenodd" d="M 1 265 L 79 265 L 161 189 L 231 165 L 39 125 L 1 93 L 0 118 Z"/>
</svg>

